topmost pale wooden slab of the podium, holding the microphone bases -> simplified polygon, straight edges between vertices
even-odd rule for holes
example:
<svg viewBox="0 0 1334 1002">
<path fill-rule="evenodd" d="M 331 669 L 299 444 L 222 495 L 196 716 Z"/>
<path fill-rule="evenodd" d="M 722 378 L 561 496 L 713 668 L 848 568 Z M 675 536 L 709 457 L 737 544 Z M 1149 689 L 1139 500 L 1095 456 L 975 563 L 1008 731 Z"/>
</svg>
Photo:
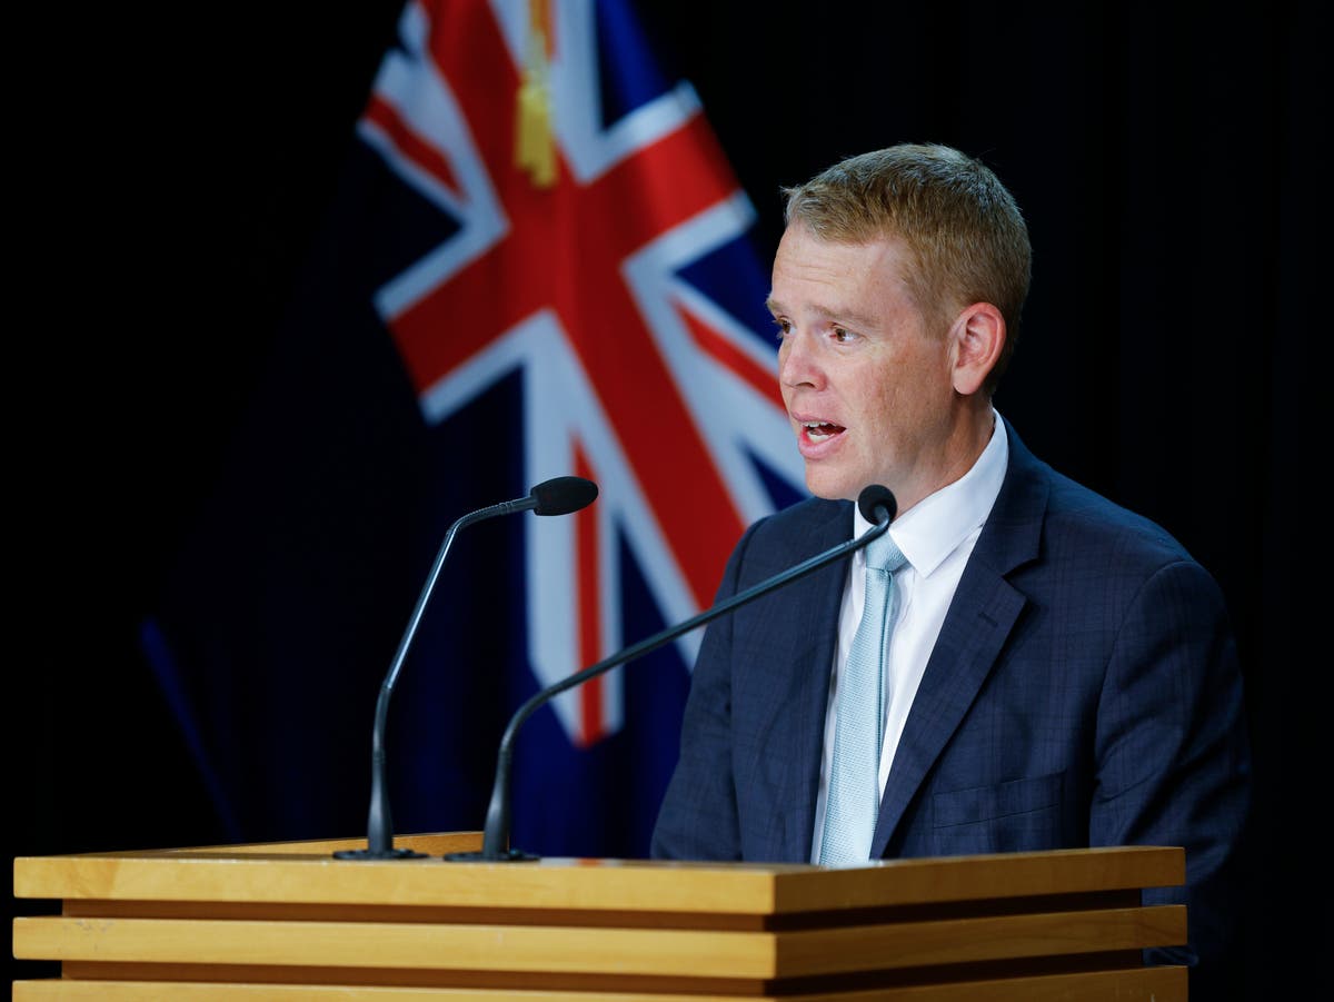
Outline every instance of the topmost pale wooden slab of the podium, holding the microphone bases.
<svg viewBox="0 0 1334 1002">
<path fill-rule="evenodd" d="M 414 859 L 336 859 L 355 839 L 19 857 L 16 898 L 691 911 L 739 915 L 1177 886 L 1170 846 L 890 859 L 850 869 L 547 858 L 455 862 L 476 833 L 407 835 Z"/>
</svg>

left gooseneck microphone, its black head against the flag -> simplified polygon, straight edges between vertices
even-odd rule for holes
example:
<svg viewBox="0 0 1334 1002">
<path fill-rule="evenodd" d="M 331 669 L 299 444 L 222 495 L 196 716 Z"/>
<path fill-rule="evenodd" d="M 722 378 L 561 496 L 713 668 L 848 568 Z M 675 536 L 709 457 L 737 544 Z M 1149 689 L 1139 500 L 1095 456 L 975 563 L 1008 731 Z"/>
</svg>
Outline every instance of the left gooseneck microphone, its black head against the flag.
<svg viewBox="0 0 1334 1002">
<path fill-rule="evenodd" d="M 464 526 L 471 526 L 496 515 L 510 515 L 516 511 L 532 511 L 538 515 L 568 515 L 588 507 L 596 496 L 598 484 L 592 480 L 584 480 L 582 476 L 556 476 L 539 483 L 528 491 L 527 498 L 516 498 L 487 508 L 479 508 L 450 526 L 450 531 L 444 535 L 444 543 L 440 544 L 440 552 L 435 558 L 435 564 L 431 567 L 431 574 L 427 576 L 426 587 L 422 588 L 422 595 L 418 598 L 416 608 L 412 610 L 412 616 L 408 619 L 408 627 L 399 642 L 394 663 L 390 664 L 390 670 L 380 683 L 380 696 L 375 703 L 375 728 L 371 734 L 371 817 L 367 826 L 367 847 L 342 849 L 334 853 L 335 858 L 419 859 L 426 855 L 424 853 L 414 853 L 411 849 L 394 847 L 388 781 L 384 774 L 384 728 L 390 716 L 390 696 L 394 695 L 394 684 L 403 670 L 403 662 L 407 659 L 412 638 L 416 635 L 418 624 L 422 622 L 426 603 L 431 599 L 431 592 L 435 590 L 436 578 L 440 576 L 440 568 L 444 566 L 444 556 L 450 552 L 454 536 Z"/>
</svg>

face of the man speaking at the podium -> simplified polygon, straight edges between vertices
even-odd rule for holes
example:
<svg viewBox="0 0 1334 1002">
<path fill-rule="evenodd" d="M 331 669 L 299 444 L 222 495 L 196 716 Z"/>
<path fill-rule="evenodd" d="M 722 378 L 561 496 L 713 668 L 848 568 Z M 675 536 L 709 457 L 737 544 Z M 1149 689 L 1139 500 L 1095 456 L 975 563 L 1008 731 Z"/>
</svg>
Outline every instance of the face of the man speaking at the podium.
<svg viewBox="0 0 1334 1002">
<path fill-rule="evenodd" d="M 879 483 L 903 510 L 939 486 L 956 398 L 944 331 L 928 331 L 904 284 L 906 248 L 783 233 L 768 307 L 779 383 L 806 486 L 855 500 Z"/>
</svg>

